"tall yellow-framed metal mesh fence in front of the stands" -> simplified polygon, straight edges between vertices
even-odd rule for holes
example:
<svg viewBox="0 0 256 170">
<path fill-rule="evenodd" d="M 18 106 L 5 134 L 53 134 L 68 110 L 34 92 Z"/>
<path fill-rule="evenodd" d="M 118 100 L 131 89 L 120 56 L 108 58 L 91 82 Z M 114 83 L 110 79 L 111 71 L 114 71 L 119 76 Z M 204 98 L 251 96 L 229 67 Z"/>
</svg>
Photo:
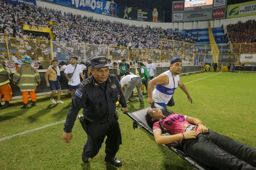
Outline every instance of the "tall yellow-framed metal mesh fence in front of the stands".
<svg viewBox="0 0 256 170">
<path fill-rule="evenodd" d="M 94 56 L 107 56 L 111 60 L 170 62 L 179 57 L 192 64 L 204 63 L 239 63 L 242 53 L 255 54 L 256 43 L 247 44 L 217 44 L 220 51 L 217 61 L 213 60 L 211 45 L 191 44 L 174 40 L 161 39 L 161 49 L 139 49 L 132 47 L 105 46 L 97 44 L 48 41 L 37 39 L 23 39 L 0 36 L 0 53 L 9 61 L 19 60 L 23 55 L 31 57 L 32 61 L 50 65 L 53 59 L 69 61 L 71 57 L 78 58 L 78 62 L 90 60 Z"/>
</svg>

